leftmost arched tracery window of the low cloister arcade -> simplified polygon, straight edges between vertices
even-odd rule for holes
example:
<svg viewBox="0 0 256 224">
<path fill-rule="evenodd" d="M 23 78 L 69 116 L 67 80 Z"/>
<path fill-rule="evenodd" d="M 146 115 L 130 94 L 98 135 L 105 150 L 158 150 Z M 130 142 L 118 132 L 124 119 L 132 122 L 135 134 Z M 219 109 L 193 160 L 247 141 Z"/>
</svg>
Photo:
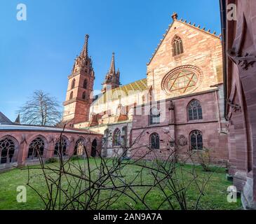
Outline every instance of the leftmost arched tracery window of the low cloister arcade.
<svg viewBox="0 0 256 224">
<path fill-rule="evenodd" d="M 0 141 L 0 164 L 12 162 L 15 151 L 15 144 L 11 139 L 3 139 Z"/>
</svg>

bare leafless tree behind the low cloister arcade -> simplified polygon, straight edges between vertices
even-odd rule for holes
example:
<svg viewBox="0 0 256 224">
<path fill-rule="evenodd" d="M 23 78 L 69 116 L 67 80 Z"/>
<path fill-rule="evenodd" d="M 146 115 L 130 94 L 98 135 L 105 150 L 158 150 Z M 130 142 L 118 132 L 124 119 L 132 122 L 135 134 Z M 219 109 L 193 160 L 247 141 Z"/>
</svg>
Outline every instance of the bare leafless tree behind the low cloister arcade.
<svg viewBox="0 0 256 224">
<path fill-rule="evenodd" d="M 18 112 L 22 123 L 27 125 L 54 126 L 62 116 L 55 97 L 50 97 L 42 90 L 36 90 Z"/>
</svg>

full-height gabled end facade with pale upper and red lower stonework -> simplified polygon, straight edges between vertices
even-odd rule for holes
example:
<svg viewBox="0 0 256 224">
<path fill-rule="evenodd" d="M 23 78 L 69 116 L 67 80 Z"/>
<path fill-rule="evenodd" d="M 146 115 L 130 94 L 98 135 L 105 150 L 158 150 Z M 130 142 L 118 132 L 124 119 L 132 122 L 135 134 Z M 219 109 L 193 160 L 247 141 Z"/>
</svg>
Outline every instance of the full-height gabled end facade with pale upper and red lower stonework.
<svg viewBox="0 0 256 224">
<path fill-rule="evenodd" d="M 133 146 L 139 149 L 132 151 L 132 157 L 141 158 L 147 154 L 146 159 L 164 159 L 177 147 L 178 157 L 185 158 L 188 152 L 196 151 L 191 135 L 201 132 L 203 148 L 210 150 L 212 162 L 226 166 L 227 128 L 220 38 L 191 23 L 177 20 L 176 13 L 163 36 L 147 65 L 147 85 L 154 99 L 148 104 L 136 106 L 133 113 L 132 142 L 143 134 Z M 175 39 L 182 41 L 182 52 L 178 55 L 175 55 Z M 182 86 L 186 72 L 189 73 L 185 77 L 190 85 Z M 196 74 L 197 78 L 191 73 Z M 175 85 L 175 82 L 179 85 Z M 201 105 L 203 116 L 190 120 L 188 108 L 195 100 Z M 159 109 L 162 117 L 157 124 L 150 123 L 150 110 L 154 107 Z M 142 115 L 136 114 L 137 109 L 142 110 Z M 160 139 L 159 149 L 154 151 L 151 151 L 150 145 L 152 134 L 157 134 Z M 172 142 L 175 146 L 171 146 Z"/>
</svg>

